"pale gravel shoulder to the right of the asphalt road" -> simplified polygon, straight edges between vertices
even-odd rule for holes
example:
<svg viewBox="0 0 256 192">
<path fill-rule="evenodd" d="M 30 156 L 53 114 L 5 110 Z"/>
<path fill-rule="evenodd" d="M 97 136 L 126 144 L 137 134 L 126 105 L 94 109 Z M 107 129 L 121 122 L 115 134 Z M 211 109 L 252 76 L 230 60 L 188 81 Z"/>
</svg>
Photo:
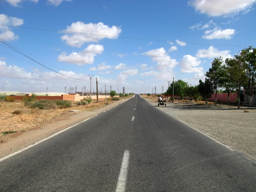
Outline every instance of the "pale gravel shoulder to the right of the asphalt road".
<svg viewBox="0 0 256 192">
<path fill-rule="evenodd" d="M 157 107 L 157 101 L 146 99 Z M 248 159 L 256 160 L 256 107 L 167 103 L 159 109 Z M 245 112 L 248 110 L 249 112 Z"/>
</svg>

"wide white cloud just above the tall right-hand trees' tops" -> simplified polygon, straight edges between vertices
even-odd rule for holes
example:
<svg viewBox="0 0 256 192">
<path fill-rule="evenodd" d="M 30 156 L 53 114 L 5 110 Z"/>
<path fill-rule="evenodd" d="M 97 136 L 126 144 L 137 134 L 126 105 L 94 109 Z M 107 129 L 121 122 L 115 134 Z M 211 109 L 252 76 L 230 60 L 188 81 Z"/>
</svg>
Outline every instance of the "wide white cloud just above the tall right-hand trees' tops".
<svg viewBox="0 0 256 192">
<path fill-rule="evenodd" d="M 224 60 L 226 58 L 231 58 L 231 55 L 229 54 L 229 50 L 219 51 L 212 45 L 209 47 L 209 49 L 199 49 L 198 53 L 195 55 L 197 58 L 216 58 L 216 57 L 223 57 Z"/>
</svg>

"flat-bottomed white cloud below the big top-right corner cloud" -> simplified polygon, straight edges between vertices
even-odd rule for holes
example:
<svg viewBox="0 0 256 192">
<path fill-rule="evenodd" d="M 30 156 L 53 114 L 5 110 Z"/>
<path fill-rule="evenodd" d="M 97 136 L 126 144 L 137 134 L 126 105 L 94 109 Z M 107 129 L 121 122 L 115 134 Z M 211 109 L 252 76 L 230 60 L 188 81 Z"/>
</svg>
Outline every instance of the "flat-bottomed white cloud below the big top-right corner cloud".
<svg viewBox="0 0 256 192">
<path fill-rule="evenodd" d="M 231 39 L 232 35 L 234 35 L 236 32 L 235 29 L 219 29 L 216 27 L 213 30 L 207 30 L 204 32 L 204 36 L 202 38 L 204 39 Z"/>
</svg>

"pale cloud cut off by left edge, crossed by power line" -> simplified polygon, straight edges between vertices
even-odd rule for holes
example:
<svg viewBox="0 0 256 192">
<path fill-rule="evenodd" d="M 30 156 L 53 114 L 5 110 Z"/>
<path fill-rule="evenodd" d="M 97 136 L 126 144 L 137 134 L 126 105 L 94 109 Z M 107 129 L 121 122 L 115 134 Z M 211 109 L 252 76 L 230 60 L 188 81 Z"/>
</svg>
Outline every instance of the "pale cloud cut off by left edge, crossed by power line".
<svg viewBox="0 0 256 192">
<path fill-rule="evenodd" d="M 11 41 L 18 39 L 19 36 L 15 35 L 13 31 L 11 31 L 11 28 L 9 26 L 4 25 L 10 25 L 10 26 L 20 26 L 23 25 L 23 19 L 19 19 L 16 17 L 8 17 L 7 15 L 0 14 L 0 38 L 5 41 Z"/>
</svg>

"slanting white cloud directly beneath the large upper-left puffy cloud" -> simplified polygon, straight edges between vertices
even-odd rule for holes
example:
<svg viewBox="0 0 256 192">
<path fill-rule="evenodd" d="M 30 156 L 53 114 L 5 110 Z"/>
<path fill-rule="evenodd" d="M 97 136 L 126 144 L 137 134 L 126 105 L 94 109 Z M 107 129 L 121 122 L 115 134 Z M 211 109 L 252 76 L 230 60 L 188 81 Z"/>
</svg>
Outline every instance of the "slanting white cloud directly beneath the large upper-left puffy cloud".
<svg viewBox="0 0 256 192">
<path fill-rule="evenodd" d="M 92 64 L 94 62 L 94 57 L 97 54 L 102 54 L 104 48 L 103 45 L 89 45 L 81 52 L 73 52 L 67 55 L 63 52 L 58 56 L 58 61 L 63 61 L 67 63 L 76 63 L 78 65 Z"/>
</svg>

